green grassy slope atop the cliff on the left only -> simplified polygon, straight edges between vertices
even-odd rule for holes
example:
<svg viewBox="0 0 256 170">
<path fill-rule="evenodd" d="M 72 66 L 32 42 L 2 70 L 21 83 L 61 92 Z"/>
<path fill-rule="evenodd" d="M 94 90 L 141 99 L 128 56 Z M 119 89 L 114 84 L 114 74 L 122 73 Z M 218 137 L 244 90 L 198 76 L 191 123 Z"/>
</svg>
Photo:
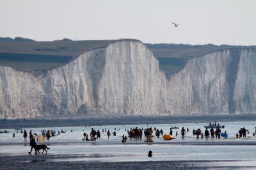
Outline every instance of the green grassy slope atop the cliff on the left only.
<svg viewBox="0 0 256 170">
<path fill-rule="evenodd" d="M 67 38 L 54 42 L 6 41 L 6 38 L 4 40 L 1 42 L 0 38 L 0 65 L 17 70 L 56 68 L 72 61 L 79 54 L 115 42 L 115 40 L 71 41 Z"/>
</svg>

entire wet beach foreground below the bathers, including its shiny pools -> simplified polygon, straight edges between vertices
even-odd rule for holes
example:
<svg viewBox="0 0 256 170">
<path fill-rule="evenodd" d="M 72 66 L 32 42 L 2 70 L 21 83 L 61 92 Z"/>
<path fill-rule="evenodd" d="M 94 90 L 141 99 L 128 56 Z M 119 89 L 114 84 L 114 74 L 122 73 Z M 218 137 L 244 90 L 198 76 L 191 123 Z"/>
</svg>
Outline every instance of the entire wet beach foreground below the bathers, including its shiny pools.
<svg viewBox="0 0 256 170">
<path fill-rule="evenodd" d="M 248 143 L 239 141 L 177 141 L 174 143 L 48 143 L 47 146 L 51 148 L 48 153 L 35 154 L 34 150 L 31 155 L 28 154 L 30 150 L 29 145 L 20 143 L 3 144 L 0 146 L 0 165 L 1 169 L 256 169 L 255 142 Z M 233 145 L 230 145 L 230 142 Z M 246 145 L 248 144 L 248 145 Z M 202 149 L 209 146 L 207 155 L 211 160 L 205 160 L 205 150 Z M 246 153 L 251 154 L 252 158 L 220 158 L 222 148 L 248 148 Z M 122 151 L 109 150 L 118 148 Z M 167 148 L 163 153 L 161 147 Z M 180 149 L 184 148 L 185 149 Z M 215 147 L 215 148 L 214 148 Z M 220 148 L 216 150 L 216 148 Z M 6 151 L 4 151 L 4 149 Z M 88 150 L 92 148 L 92 150 Z M 105 150 L 102 150 L 105 148 Z M 129 148 L 132 148 L 129 150 Z M 153 150 L 153 157 L 147 157 L 149 148 Z M 175 149 L 176 148 L 176 149 Z M 196 148 L 196 149 L 195 149 Z M 195 153 L 201 148 L 201 151 Z M 97 149 L 97 150 L 95 150 Z M 140 149 L 138 151 L 138 149 Z M 243 148 L 242 148 L 243 149 Z M 191 153 L 186 153 L 192 150 Z M 42 151 L 42 150 L 41 150 Z M 93 152 L 95 151 L 95 152 Z M 127 153 L 124 153 L 127 151 Z M 136 153 L 138 151 L 138 153 Z M 173 151 L 175 153 L 170 153 Z M 228 150 L 227 150 L 228 151 Z M 236 154 L 230 152 L 228 154 Z M 184 157 L 188 154 L 188 157 Z M 190 155 L 189 155 L 190 154 Z M 203 154 L 203 155 L 202 155 Z M 245 155 L 241 152 L 242 155 Z M 198 158 L 198 156 L 200 156 Z M 175 160 L 184 158 L 185 160 Z M 247 156 L 246 156 L 247 157 Z M 189 159 L 190 158 L 190 159 Z M 206 158 L 207 159 L 207 158 Z"/>
</svg>

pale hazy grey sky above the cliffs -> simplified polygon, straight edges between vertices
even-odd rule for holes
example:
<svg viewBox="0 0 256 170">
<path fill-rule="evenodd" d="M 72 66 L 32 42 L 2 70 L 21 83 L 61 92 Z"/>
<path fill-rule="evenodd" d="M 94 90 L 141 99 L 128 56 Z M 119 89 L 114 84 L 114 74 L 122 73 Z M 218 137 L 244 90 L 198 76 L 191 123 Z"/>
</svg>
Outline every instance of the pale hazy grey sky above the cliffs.
<svg viewBox="0 0 256 170">
<path fill-rule="evenodd" d="M 256 1 L 0 0 L 0 24 L 1 37 L 38 41 L 256 45 Z"/>
</svg>

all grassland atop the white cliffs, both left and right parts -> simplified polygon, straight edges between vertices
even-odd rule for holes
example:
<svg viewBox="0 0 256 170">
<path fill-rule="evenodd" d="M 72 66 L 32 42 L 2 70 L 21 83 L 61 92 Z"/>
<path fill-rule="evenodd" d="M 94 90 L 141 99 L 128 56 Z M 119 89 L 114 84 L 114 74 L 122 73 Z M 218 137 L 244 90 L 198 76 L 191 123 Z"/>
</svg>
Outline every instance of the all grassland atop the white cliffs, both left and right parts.
<svg viewBox="0 0 256 170">
<path fill-rule="evenodd" d="M 104 48 L 118 40 L 72 41 L 67 38 L 53 42 L 36 42 L 28 38 L 0 38 L 0 65 L 17 70 L 46 70 L 65 65 L 86 51 Z M 146 44 L 159 61 L 160 70 L 179 72 L 189 59 L 230 48 L 255 46 Z"/>
</svg>

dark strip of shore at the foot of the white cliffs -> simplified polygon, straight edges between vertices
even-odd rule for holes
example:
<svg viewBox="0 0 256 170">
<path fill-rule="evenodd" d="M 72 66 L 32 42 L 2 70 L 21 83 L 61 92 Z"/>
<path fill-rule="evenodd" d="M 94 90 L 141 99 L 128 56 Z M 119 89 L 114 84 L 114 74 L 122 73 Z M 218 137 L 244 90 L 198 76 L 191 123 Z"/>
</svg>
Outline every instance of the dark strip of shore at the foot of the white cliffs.
<svg viewBox="0 0 256 170">
<path fill-rule="evenodd" d="M 85 116 L 46 116 L 40 118 L 0 119 L 0 128 L 27 127 L 81 127 L 84 125 L 142 125 L 142 124 L 176 124 L 209 123 L 230 121 L 256 121 L 255 114 L 222 115 L 85 115 Z"/>
</svg>

